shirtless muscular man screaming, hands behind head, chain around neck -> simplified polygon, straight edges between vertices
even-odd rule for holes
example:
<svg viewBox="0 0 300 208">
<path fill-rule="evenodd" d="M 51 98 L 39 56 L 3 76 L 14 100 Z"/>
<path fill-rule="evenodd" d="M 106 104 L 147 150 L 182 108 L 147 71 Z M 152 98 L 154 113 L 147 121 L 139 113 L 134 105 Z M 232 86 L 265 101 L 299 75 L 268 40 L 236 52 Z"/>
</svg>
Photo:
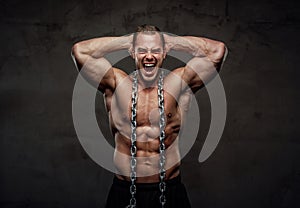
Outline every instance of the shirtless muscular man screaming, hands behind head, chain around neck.
<svg viewBox="0 0 300 208">
<path fill-rule="evenodd" d="M 106 54 L 126 49 L 136 64 L 130 75 Z M 170 50 L 193 56 L 166 73 Z M 122 37 L 101 37 L 73 46 L 78 69 L 105 96 L 115 138 L 117 169 L 106 207 L 190 207 L 180 181 L 180 128 L 190 95 L 220 70 L 226 47 L 202 37 L 173 36 L 151 25 Z"/>
</svg>

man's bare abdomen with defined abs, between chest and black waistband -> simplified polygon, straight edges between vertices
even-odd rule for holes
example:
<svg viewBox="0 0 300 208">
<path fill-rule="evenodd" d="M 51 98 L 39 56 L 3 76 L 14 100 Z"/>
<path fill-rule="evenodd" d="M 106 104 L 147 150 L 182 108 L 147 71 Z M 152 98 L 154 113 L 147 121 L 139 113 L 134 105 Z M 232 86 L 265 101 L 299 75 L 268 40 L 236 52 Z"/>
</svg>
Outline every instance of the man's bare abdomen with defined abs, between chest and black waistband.
<svg viewBox="0 0 300 208">
<path fill-rule="evenodd" d="M 137 128 L 137 183 L 159 182 L 159 135 L 158 127 L 143 126 Z M 170 135 L 170 134 L 166 134 Z M 172 135 L 172 134 L 171 134 Z M 128 137 L 117 132 L 115 134 L 115 153 L 114 163 L 119 179 L 130 180 L 130 146 Z M 165 138 L 166 145 L 166 177 L 171 179 L 179 174 L 180 154 L 178 149 L 177 136 L 168 136 Z"/>
</svg>

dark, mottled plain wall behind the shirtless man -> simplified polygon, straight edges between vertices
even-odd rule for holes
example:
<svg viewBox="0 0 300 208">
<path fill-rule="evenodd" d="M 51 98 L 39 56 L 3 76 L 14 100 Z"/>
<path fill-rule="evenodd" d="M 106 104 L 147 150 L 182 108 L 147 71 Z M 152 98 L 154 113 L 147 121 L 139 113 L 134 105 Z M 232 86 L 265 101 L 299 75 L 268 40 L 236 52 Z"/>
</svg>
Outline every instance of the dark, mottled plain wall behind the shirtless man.
<svg viewBox="0 0 300 208">
<path fill-rule="evenodd" d="M 229 48 L 220 73 L 226 127 L 204 163 L 198 155 L 210 104 L 205 89 L 196 95 L 200 132 L 182 165 L 193 207 L 299 206 L 298 1 L 11 0 L 0 8 L 0 207 L 103 207 L 112 173 L 87 156 L 75 134 L 70 50 L 143 23 Z"/>
</svg>

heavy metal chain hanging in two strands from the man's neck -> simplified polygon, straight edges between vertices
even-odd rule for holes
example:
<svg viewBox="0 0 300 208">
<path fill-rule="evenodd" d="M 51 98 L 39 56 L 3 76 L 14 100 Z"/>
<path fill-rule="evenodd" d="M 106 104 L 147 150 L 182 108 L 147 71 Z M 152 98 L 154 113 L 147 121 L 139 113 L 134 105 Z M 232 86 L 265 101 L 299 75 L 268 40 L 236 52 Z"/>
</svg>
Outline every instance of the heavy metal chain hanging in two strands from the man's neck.
<svg viewBox="0 0 300 208">
<path fill-rule="evenodd" d="M 161 71 L 159 75 L 159 80 L 158 80 L 158 89 L 157 89 L 157 94 L 158 94 L 158 108 L 159 108 L 159 115 L 160 115 L 160 120 L 159 120 L 159 128 L 160 128 L 160 135 L 159 135 L 159 190 L 161 192 L 161 195 L 159 197 L 159 201 L 161 204 L 161 207 L 164 208 L 164 205 L 166 203 L 166 196 L 165 196 L 165 191 L 166 191 L 166 183 L 165 183 L 165 176 L 166 176 L 166 171 L 165 171 L 165 109 L 164 109 L 164 94 L 163 94 L 163 78 L 164 78 L 164 72 Z M 134 71 L 133 73 L 133 83 L 132 83 L 132 94 L 131 94 L 131 148 L 130 148 L 130 153 L 131 153 L 131 161 L 130 161 L 130 180 L 131 180 L 131 185 L 130 185 L 130 194 L 131 194 L 131 199 L 130 199 L 130 204 L 127 206 L 127 208 L 136 208 L 136 116 L 137 116 L 137 97 L 138 97 L 138 82 L 137 82 L 137 71 Z"/>
</svg>

